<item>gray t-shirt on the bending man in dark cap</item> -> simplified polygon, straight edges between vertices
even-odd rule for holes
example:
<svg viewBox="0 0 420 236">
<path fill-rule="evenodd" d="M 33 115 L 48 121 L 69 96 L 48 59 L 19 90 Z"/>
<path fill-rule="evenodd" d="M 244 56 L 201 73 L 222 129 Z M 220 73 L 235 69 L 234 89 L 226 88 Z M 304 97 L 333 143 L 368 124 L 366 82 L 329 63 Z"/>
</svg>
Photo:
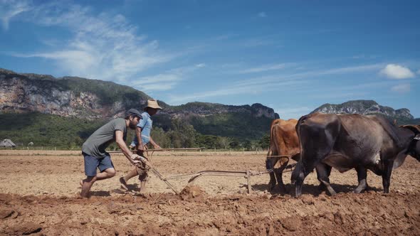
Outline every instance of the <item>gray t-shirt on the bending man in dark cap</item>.
<svg viewBox="0 0 420 236">
<path fill-rule="evenodd" d="M 107 156 L 105 149 L 115 141 L 115 130 L 121 130 L 123 139 L 127 139 L 127 125 L 125 119 L 117 118 L 96 130 L 88 140 L 85 141 L 82 151 L 89 156 L 103 158 Z"/>
</svg>

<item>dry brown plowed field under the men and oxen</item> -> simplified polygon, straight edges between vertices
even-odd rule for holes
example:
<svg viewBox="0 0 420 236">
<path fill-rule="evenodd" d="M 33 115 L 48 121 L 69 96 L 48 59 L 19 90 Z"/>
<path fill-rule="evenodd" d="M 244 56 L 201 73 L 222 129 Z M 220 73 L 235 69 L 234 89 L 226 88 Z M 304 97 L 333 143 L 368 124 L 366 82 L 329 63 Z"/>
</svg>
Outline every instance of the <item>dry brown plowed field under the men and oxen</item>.
<svg viewBox="0 0 420 236">
<path fill-rule="evenodd" d="M 264 171 L 265 153 L 162 152 L 152 163 L 163 176 L 203 170 Z M 330 177 L 339 192 L 317 188 L 315 173 L 293 198 L 290 172 L 283 173 L 289 193 L 268 193 L 268 175 L 251 178 L 246 194 L 241 177 L 202 177 L 185 188 L 189 176 L 169 180 L 174 195 L 156 176 L 145 195 L 120 188 L 118 178 L 132 167 L 113 154 L 117 176 L 98 181 L 92 197 L 82 199 L 80 151 L 0 151 L 0 235 L 420 235 L 420 163 L 408 157 L 392 173 L 391 193 L 382 178 L 368 173 L 371 191 L 351 193 L 355 171 Z"/>
</svg>

